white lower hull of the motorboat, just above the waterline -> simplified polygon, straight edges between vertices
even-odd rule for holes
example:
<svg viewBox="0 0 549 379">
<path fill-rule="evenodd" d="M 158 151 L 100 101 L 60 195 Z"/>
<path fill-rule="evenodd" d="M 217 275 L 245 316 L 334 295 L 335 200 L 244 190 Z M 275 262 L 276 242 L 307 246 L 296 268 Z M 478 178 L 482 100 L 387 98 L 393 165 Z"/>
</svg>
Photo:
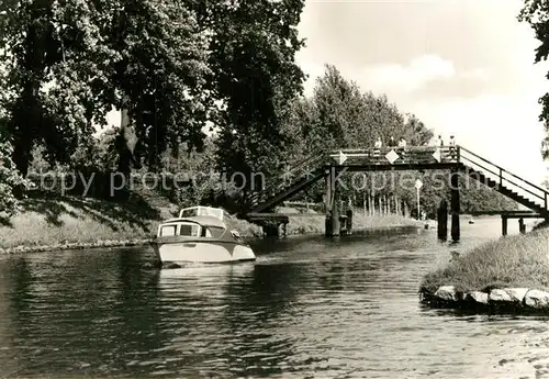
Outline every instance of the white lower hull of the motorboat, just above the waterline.
<svg viewBox="0 0 549 379">
<path fill-rule="evenodd" d="M 186 241 L 157 244 L 157 255 L 165 263 L 238 263 L 256 260 L 254 250 L 244 244 Z"/>
</svg>

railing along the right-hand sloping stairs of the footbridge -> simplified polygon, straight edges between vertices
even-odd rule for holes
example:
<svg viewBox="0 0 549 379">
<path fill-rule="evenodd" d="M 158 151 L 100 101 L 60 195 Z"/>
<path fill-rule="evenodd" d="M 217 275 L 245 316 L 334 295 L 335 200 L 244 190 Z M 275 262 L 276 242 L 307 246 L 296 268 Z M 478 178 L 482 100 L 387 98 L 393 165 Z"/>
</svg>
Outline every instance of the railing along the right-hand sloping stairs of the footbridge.
<svg viewBox="0 0 549 379">
<path fill-rule="evenodd" d="M 547 190 L 520 178 L 518 175 L 513 174 L 498 165 L 493 164 L 463 146 L 458 146 L 458 148 L 461 163 L 473 169 L 482 171 L 486 177 L 496 181 L 500 187 L 503 186 L 526 197 L 527 199 L 533 200 L 546 210 L 548 209 L 549 192 Z"/>
</svg>

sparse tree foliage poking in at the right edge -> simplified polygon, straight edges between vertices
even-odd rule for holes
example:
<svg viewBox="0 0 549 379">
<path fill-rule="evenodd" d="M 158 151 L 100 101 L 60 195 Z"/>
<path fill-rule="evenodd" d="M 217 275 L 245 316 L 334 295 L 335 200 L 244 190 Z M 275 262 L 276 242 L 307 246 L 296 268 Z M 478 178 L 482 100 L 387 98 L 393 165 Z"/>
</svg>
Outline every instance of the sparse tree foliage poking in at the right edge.
<svg viewBox="0 0 549 379">
<path fill-rule="evenodd" d="M 530 24 L 536 38 L 540 42 L 536 48 L 534 63 L 547 60 L 549 56 L 549 9 L 546 1 L 525 0 L 518 20 Z M 542 107 L 539 121 L 545 123 L 546 133 L 549 133 L 549 92 L 539 98 L 539 103 Z M 549 159 L 549 134 L 541 142 L 541 155 L 544 159 Z"/>
</svg>

